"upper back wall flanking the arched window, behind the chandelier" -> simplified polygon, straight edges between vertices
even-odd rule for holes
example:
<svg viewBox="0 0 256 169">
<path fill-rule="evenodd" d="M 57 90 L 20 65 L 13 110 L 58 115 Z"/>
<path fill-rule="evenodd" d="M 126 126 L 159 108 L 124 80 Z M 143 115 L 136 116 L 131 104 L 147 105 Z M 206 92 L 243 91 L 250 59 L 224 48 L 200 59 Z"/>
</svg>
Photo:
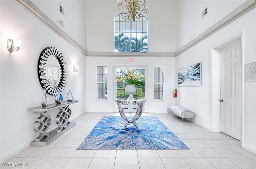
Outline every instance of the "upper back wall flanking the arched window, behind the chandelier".
<svg viewBox="0 0 256 169">
<path fill-rule="evenodd" d="M 148 51 L 175 52 L 176 1 L 150 0 L 148 6 Z M 114 51 L 115 0 L 86 1 L 87 51 Z"/>
</svg>

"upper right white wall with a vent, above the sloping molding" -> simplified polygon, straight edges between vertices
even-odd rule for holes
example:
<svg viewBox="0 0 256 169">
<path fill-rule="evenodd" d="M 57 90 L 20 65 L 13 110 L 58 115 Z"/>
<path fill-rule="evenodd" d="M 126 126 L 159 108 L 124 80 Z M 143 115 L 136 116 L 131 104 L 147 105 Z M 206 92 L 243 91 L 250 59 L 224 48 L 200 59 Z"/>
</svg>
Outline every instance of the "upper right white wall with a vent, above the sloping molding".
<svg viewBox="0 0 256 169">
<path fill-rule="evenodd" d="M 178 1 L 176 49 L 192 41 L 244 2 L 245 0 Z M 208 7 L 208 14 L 201 19 L 202 11 L 206 7 Z"/>
</svg>

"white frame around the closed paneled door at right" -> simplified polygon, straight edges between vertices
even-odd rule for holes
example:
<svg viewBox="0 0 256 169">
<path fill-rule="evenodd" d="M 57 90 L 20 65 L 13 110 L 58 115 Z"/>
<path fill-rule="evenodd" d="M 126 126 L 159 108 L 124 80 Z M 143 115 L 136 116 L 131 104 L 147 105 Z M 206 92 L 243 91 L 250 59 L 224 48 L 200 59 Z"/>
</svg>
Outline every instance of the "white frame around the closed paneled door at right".
<svg viewBox="0 0 256 169">
<path fill-rule="evenodd" d="M 240 41 L 241 44 L 241 147 L 244 147 L 244 33 L 245 30 L 233 37 L 210 47 L 210 124 L 212 132 L 221 132 L 220 108 L 220 75 L 221 75 L 221 49 Z"/>
</svg>

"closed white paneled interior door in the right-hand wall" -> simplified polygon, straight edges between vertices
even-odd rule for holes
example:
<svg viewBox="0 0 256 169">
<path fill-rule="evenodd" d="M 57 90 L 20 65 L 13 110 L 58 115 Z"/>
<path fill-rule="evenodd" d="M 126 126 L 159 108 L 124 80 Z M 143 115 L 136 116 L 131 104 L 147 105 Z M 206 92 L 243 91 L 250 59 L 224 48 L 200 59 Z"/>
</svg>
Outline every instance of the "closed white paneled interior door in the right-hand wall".
<svg viewBox="0 0 256 169">
<path fill-rule="evenodd" d="M 221 49 L 221 132 L 241 140 L 241 45 Z"/>
</svg>

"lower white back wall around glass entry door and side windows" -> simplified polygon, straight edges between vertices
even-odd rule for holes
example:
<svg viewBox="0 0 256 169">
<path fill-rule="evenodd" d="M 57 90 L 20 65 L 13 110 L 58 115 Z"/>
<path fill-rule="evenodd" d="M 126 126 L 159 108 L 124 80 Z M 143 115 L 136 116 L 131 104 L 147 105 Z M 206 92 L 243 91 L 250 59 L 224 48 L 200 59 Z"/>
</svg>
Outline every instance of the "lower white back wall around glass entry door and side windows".
<svg viewBox="0 0 256 169">
<path fill-rule="evenodd" d="M 114 65 L 147 66 L 146 79 L 147 112 L 167 112 L 167 108 L 174 105 L 172 92 L 175 89 L 175 58 L 134 57 L 134 62 L 128 62 L 128 57 L 86 57 L 86 112 L 113 112 L 114 110 L 114 81 L 116 75 L 112 70 Z M 108 100 L 97 101 L 97 66 L 108 66 Z M 164 67 L 165 87 L 164 100 L 153 100 L 153 69 Z"/>
</svg>

